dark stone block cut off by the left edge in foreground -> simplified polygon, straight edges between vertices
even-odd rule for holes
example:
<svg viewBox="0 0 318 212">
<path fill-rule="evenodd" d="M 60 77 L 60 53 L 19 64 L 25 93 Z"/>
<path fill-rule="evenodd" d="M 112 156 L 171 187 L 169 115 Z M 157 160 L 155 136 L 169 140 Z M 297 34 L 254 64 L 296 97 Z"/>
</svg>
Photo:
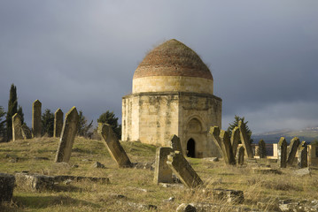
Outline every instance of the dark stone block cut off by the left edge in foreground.
<svg viewBox="0 0 318 212">
<path fill-rule="evenodd" d="M 12 200 L 14 181 L 13 175 L 0 173 L 0 204 Z"/>
</svg>

